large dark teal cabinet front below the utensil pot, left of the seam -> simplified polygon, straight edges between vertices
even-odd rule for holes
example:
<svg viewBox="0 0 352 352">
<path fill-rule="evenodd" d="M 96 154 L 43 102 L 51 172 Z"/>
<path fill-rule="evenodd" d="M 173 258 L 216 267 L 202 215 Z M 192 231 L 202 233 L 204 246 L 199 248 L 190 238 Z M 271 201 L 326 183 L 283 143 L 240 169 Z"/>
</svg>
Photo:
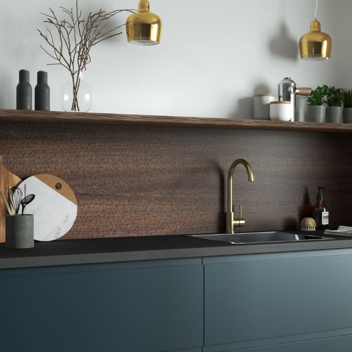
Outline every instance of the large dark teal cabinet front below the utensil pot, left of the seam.
<svg viewBox="0 0 352 352">
<path fill-rule="evenodd" d="M 157 352 L 201 346 L 201 259 L 199 265 L 192 259 L 168 265 L 165 260 L 140 269 L 112 264 L 103 271 L 101 265 L 84 272 L 6 271 L 0 277 L 0 350 Z"/>
</svg>

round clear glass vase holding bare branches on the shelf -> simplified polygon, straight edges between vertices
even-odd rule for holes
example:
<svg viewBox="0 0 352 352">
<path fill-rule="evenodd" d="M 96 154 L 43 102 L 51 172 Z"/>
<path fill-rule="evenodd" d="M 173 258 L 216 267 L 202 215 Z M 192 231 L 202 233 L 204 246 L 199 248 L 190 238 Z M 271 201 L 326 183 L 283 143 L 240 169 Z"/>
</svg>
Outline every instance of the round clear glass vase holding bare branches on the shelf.
<svg viewBox="0 0 352 352">
<path fill-rule="evenodd" d="M 93 105 L 91 86 L 83 80 L 81 71 L 76 72 L 59 90 L 59 103 L 64 111 L 88 112 Z"/>
</svg>

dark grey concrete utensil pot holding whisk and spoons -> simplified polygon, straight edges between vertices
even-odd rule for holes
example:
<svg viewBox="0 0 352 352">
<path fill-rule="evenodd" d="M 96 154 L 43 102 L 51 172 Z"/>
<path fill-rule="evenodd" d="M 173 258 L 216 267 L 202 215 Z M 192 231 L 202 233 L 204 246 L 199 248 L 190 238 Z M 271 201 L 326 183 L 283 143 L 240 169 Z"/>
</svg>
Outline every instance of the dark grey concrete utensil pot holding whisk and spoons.
<svg viewBox="0 0 352 352">
<path fill-rule="evenodd" d="M 6 248 L 34 247 L 34 216 L 6 215 Z"/>
</svg>

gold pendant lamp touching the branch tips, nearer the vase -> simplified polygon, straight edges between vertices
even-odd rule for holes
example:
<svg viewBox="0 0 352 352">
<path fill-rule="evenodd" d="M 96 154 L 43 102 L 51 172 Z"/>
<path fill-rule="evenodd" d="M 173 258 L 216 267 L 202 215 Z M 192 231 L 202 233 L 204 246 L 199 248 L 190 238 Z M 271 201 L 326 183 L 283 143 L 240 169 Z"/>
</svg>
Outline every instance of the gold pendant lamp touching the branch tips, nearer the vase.
<svg viewBox="0 0 352 352">
<path fill-rule="evenodd" d="M 136 45 L 156 45 L 161 38 L 161 19 L 149 10 L 148 0 L 140 0 L 138 12 L 126 20 L 127 40 Z"/>
</svg>

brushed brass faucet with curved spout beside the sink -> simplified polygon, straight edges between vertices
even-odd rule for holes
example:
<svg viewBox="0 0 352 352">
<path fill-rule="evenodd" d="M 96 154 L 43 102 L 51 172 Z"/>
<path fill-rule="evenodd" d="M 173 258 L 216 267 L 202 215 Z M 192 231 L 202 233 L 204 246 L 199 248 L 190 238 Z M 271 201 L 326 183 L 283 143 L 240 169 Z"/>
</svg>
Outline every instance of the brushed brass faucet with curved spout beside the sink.
<svg viewBox="0 0 352 352">
<path fill-rule="evenodd" d="M 250 167 L 249 163 L 244 160 L 244 159 L 237 159 L 235 160 L 232 165 L 230 166 L 229 169 L 229 174 L 228 174 L 228 179 L 227 179 L 227 213 L 226 213 L 226 233 L 234 233 L 233 232 L 233 227 L 242 227 L 245 224 L 244 219 L 242 219 L 242 206 L 239 206 L 239 217 L 238 219 L 234 219 L 234 213 L 232 210 L 232 176 L 233 176 L 233 171 L 235 170 L 235 167 L 238 164 L 242 164 L 248 174 L 248 181 L 253 182 L 254 177 L 253 177 L 253 172 L 252 168 Z"/>
</svg>

